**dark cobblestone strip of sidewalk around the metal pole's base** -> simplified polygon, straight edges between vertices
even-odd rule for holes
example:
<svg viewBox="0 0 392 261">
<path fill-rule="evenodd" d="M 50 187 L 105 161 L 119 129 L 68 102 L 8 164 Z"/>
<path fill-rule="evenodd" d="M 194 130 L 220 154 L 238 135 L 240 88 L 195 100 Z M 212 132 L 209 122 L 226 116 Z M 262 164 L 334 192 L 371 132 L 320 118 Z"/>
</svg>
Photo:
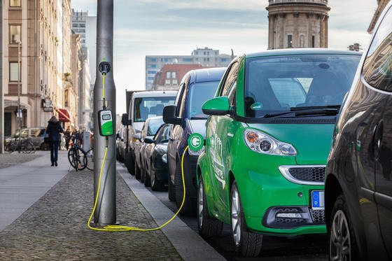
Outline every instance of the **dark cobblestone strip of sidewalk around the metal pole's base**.
<svg viewBox="0 0 392 261">
<path fill-rule="evenodd" d="M 1 231 L 0 260 L 181 260 L 161 231 L 89 230 L 92 178 L 92 171 L 69 172 Z M 117 220 L 121 225 L 157 226 L 119 176 Z"/>
</svg>

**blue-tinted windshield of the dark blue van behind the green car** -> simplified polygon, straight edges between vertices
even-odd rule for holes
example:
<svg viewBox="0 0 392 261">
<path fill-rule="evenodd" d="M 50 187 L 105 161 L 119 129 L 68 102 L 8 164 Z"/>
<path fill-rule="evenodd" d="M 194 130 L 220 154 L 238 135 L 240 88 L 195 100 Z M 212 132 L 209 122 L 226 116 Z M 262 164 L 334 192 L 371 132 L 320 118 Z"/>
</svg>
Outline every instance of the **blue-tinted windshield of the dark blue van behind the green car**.
<svg viewBox="0 0 392 261">
<path fill-rule="evenodd" d="M 219 81 L 211 81 L 190 85 L 188 118 L 191 120 L 207 119 L 207 115 L 202 111 L 202 105 L 205 101 L 214 97 L 218 84 Z"/>
</svg>

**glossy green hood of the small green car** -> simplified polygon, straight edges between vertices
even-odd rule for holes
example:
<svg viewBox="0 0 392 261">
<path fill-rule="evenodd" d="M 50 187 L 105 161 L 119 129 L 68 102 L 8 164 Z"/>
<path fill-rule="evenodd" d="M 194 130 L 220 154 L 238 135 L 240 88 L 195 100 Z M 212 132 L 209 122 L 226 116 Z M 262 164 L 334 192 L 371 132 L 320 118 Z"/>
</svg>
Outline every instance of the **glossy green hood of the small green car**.
<svg viewBox="0 0 392 261">
<path fill-rule="evenodd" d="M 248 124 L 297 150 L 297 164 L 326 164 L 332 142 L 332 124 Z"/>
</svg>

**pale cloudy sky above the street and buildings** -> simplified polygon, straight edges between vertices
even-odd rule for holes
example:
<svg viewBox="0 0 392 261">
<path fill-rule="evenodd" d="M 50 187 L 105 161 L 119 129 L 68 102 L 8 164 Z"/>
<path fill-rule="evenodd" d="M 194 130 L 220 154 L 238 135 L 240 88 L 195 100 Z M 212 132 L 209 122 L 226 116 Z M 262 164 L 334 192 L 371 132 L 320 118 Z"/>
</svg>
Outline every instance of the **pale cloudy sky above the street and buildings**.
<svg viewBox="0 0 392 261">
<path fill-rule="evenodd" d="M 97 0 L 71 0 L 71 6 L 97 15 Z M 267 6 L 267 0 L 114 0 L 116 113 L 125 113 L 125 89 L 144 90 L 146 55 L 190 55 L 204 47 L 228 55 L 231 49 L 235 55 L 267 50 Z M 328 47 L 365 48 L 377 1 L 330 0 L 328 6 Z"/>
</svg>

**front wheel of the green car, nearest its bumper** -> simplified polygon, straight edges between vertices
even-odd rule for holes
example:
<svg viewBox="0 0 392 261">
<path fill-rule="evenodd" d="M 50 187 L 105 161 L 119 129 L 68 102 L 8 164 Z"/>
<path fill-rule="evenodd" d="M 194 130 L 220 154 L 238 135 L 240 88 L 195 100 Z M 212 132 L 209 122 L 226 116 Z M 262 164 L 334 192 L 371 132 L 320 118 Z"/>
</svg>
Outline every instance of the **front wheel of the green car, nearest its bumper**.
<svg viewBox="0 0 392 261">
<path fill-rule="evenodd" d="M 232 183 L 230 190 L 230 228 L 237 254 L 243 257 L 255 257 L 260 254 L 262 234 L 250 232 L 246 226 L 236 181 Z"/>
</svg>

